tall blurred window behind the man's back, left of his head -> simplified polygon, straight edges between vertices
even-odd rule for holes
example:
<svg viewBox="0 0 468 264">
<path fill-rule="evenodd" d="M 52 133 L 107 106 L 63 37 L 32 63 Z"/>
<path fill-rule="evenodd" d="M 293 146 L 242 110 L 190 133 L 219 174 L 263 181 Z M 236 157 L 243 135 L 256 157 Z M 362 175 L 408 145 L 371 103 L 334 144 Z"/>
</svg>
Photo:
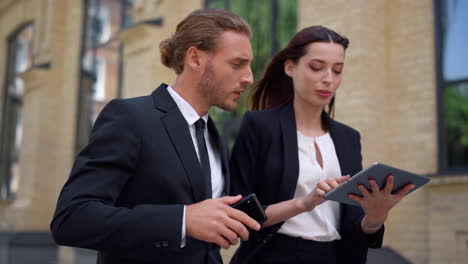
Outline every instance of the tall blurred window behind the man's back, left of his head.
<svg viewBox="0 0 468 264">
<path fill-rule="evenodd" d="M 120 96 L 122 44 L 117 33 L 132 24 L 134 0 L 85 0 L 76 150 L 88 143 L 99 112 Z"/>
</svg>

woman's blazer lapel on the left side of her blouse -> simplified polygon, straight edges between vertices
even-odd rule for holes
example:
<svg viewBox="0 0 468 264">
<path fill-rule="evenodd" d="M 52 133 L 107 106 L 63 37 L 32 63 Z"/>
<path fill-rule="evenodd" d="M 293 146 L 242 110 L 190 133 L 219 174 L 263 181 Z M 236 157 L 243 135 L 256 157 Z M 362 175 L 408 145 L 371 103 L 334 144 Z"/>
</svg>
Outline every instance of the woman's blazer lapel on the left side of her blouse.
<svg viewBox="0 0 468 264">
<path fill-rule="evenodd" d="M 283 136 L 284 167 L 281 179 L 280 201 L 292 199 L 299 177 L 299 154 L 297 150 L 297 128 L 292 102 L 280 109 L 281 132 Z"/>
</svg>

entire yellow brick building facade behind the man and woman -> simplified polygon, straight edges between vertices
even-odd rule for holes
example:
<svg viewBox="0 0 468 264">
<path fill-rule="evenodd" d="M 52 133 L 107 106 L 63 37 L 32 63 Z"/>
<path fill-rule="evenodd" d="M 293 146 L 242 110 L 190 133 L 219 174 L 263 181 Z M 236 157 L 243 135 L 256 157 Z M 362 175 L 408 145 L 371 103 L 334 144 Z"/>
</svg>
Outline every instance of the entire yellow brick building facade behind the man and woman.
<svg viewBox="0 0 468 264">
<path fill-rule="evenodd" d="M 172 83 L 175 75 L 160 64 L 158 44 L 203 2 L 135 2 L 135 22 L 163 23 L 119 33 L 123 97 Z M 82 12 L 77 0 L 0 1 L 0 83 L 6 39 L 24 23 L 35 25 L 34 63 L 50 63 L 22 75 L 21 182 L 16 200 L 0 201 L 0 231 L 49 229 L 74 159 Z M 299 29 L 321 24 L 351 41 L 336 118 L 361 132 L 363 165 L 380 161 L 432 177 L 391 212 L 384 245 L 412 263 L 468 263 L 468 175 L 437 175 L 434 20 L 432 0 L 298 0 Z M 223 251 L 225 260 L 232 252 Z"/>
</svg>

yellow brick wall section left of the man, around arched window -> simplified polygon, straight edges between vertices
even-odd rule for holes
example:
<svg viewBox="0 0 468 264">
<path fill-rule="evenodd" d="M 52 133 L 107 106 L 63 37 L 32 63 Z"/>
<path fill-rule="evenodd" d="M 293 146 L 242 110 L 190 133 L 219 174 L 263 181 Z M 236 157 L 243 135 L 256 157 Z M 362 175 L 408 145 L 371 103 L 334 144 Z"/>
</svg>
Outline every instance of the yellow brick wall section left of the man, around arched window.
<svg viewBox="0 0 468 264">
<path fill-rule="evenodd" d="M 20 188 L 14 201 L 0 205 L 0 222 L 7 230 L 47 230 L 57 190 L 69 173 L 73 161 L 81 32 L 81 23 L 76 21 L 80 20 L 81 1 L 25 0 L 1 4 L 2 84 L 6 40 L 22 24 L 34 23 L 34 64 L 51 63 L 48 69 L 33 68 L 23 74 Z M 2 95 L 3 89 L 2 86 Z"/>
</svg>

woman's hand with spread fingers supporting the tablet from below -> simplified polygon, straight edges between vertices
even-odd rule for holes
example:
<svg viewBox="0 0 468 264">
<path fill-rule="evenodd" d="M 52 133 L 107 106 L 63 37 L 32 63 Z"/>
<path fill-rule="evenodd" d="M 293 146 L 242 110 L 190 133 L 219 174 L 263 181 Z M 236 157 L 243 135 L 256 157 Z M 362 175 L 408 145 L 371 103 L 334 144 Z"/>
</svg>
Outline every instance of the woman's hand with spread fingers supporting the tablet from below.
<svg viewBox="0 0 468 264">
<path fill-rule="evenodd" d="M 364 185 L 359 185 L 358 188 L 361 190 L 362 197 L 349 194 L 349 198 L 358 202 L 366 213 L 361 224 L 363 230 L 368 231 L 366 233 L 377 231 L 387 220 L 390 209 L 415 187 L 413 184 L 407 184 L 396 194 L 392 194 L 393 180 L 393 175 L 389 175 L 385 187 L 380 190 L 375 180 L 370 179 L 371 191 L 367 190 Z"/>
</svg>

